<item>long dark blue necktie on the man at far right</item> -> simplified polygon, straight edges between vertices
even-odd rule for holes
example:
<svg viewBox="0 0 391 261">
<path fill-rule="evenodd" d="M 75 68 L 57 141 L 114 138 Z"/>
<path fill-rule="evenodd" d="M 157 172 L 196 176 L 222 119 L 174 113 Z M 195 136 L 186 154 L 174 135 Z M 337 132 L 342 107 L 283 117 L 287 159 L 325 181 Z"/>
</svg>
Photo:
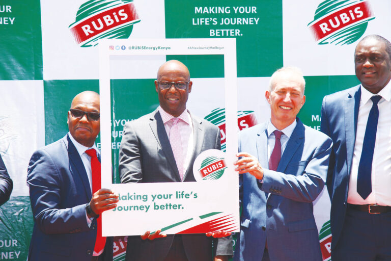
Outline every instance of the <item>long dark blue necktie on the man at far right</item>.
<svg viewBox="0 0 391 261">
<path fill-rule="evenodd" d="M 377 107 L 377 103 L 380 99 L 381 96 L 379 95 L 371 97 L 373 104 L 368 115 L 360 163 L 358 164 L 357 193 L 364 199 L 372 192 L 372 159 L 376 141 L 377 122 L 379 119 L 379 108 Z"/>
</svg>

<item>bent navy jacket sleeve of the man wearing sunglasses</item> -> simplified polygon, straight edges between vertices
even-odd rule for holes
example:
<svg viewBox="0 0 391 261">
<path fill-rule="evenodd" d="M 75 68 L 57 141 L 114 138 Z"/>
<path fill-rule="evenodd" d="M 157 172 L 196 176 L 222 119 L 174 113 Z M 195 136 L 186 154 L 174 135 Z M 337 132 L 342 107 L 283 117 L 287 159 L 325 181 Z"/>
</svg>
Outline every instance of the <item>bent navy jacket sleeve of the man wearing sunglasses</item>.
<svg viewBox="0 0 391 261">
<path fill-rule="evenodd" d="M 27 169 L 27 185 L 34 221 L 46 234 L 90 231 L 86 205 L 62 206 L 61 171 L 45 150 L 34 152 Z"/>
</svg>

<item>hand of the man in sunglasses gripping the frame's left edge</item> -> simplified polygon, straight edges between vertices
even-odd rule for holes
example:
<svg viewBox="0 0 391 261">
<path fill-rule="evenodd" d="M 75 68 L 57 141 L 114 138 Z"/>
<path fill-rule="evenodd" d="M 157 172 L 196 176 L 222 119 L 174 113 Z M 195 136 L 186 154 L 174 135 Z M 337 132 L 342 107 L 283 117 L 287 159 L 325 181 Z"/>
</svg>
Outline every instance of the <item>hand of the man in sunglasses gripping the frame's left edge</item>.
<svg viewBox="0 0 391 261">
<path fill-rule="evenodd" d="M 98 215 L 104 211 L 111 210 L 117 206 L 118 197 L 117 194 L 114 194 L 109 189 L 100 189 L 92 195 L 90 201 L 91 210 Z M 91 217 L 89 216 L 89 218 Z"/>
</svg>

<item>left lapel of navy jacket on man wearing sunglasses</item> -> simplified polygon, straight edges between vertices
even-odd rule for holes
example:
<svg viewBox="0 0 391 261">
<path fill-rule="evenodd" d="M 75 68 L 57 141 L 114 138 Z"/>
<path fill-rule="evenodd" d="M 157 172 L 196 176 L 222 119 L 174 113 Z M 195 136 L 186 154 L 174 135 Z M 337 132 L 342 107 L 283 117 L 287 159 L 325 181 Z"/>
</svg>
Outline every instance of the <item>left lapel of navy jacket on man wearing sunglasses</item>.
<svg viewBox="0 0 391 261">
<path fill-rule="evenodd" d="M 71 172 L 77 172 L 73 174 L 79 175 L 81 181 L 83 182 L 83 187 L 86 191 L 87 198 L 88 200 L 91 200 L 92 193 L 90 181 L 88 180 L 87 172 L 83 165 L 83 162 L 81 161 L 80 155 L 77 152 L 77 149 L 73 145 L 72 141 L 69 139 L 68 135 L 63 138 L 63 141 L 65 143 L 65 146 L 68 148 L 70 170 Z"/>
</svg>

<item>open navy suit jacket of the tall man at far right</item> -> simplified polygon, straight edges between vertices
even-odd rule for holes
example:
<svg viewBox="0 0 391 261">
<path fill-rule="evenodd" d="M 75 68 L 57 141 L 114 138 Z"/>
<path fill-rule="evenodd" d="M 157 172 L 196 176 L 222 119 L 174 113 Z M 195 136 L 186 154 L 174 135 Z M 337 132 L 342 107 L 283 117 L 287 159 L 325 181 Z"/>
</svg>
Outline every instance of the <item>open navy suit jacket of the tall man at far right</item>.
<svg viewBox="0 0 391 261">
<path fill-rule="evenodd" d="M 320 129 L 334 143 L 327 173 L 327 189 L 331 198 L 331 250 L 338 243 L 345 221 L 360 98 L 358 85 L 327 95 L 322 103 Z"/>
</svg>

